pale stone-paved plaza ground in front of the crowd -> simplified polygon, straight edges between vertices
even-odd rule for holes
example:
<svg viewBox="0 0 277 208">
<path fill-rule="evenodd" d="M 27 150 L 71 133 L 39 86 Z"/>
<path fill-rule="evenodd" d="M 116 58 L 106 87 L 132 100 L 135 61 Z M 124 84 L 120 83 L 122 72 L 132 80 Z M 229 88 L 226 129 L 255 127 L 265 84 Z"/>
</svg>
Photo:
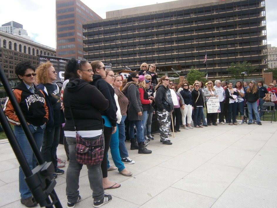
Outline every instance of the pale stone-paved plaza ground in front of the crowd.
<svg viewBox="0 0 277 208">
<path fill-rule="evenodd" d="M 150 155 L 137 154 L 126 142 L 135 160 L 126 165 L 133 176 L 108 172 L 121 187 L 106 190 L 113 199 L 103 207 L 276 207 L 277 123 L 262 123 L 181 129 L 170 137 L 173 145 L 163 145 L 155 134 L 148 145 Z M 63 145 L 57 154 L 66 159 Z M 55 190 L 66 207 L 66 174 L 56 181 Z M 79 184 L 82 200 L 75 207 L 92 207 L 86 167 Z M 0 196 L 0 207 L 23 207 L 18 162 L 4 140 L 0 140 Z"/>
</svg>

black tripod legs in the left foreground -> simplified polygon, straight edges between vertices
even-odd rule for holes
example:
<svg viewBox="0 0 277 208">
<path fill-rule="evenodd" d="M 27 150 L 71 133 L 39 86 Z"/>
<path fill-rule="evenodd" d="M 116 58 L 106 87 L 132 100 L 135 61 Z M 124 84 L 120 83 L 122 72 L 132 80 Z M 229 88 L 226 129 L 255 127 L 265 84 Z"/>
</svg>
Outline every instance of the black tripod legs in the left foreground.
<svg viewBox="0 0 277 208">
<path fill-rule="evenodd" d="M 19 121 L 21 123 L 21 126 L 25 132 L 25 135 L 28 139 L 28 142 L 34 152 L 34 155 L 36 156 L 36 159 L 38 161 L 38 166 L 35 167 L 33 170 L 30 169 L 28 166 L 28 163 L 24 157 L 24 154 L 21 150 L 21 147 L 19 146 L 17 139 L 14 135 L 13 130 L 11 129 L 11 126 L 6 118 L 6 115 L 4 114 L 3 109 L 0 109 L 0 122 L 4 129 L 4 132 L 6 133 L 6 136 L 9 139 L 9 142 L 11 144 L 11 148 L 14 151 L 14 154 L 16 155 L 16 158 L 19 162 L 19 165 L 22 168 L 22 171 L 25 175 L 25 181 L 28 185 L 29 189 L 31 190 L 31 193 L 33 195 L 33 198 L 36 200 L 36 202 L 41 207 L 62 207 L 58 196 L 54 190 L 54 187 L 56 185 L 56 181 L 53 178 L 53 172 L 54 172 L 54 166 L 52 162 L 45 162 L 41 152 L 38 149 L 38 146 L 36 145 L 36 142 L 33 138 L 33 135 L 28 128 L 27 122 L 23 116 L 23 113 L 21 112 L 21 109 L 19 107 L 19 104 L 16 101 L 16 98 L 14 96 L 14 93 L 11 89 L 11 86 L 9 85 L 9 81 L 6 78 L 6 75 L 4 73 L 4 70 L 2 66 L 0 65 L 0 80 L 2 81 L 2 84 L 6 90 L 6 93 L 11 101 L 11 104 L 14 107 L 14 110 L 16 112 L 16 115 L 19 118 Z M 50 195 L 51 199 L 49 199 L 48 195 Z"/>
</svg>

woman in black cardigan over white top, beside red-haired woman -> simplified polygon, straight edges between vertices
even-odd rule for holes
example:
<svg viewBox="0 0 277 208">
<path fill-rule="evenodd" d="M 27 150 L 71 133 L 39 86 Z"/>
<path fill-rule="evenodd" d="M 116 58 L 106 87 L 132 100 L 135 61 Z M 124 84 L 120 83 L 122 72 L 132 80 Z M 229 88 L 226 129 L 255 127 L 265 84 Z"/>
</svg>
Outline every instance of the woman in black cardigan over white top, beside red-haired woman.
<svg viewBox="0 0 277 208">
<path fill-rule="evenodd" d="M 236 111 L 238 107 L 239 93 L 237 92 L 236 88 L 233 88 L 233 83 L 229 82 L 228 88 L 225 90 L 225 95 L 228 106 L 229 125 L 238 125 L 238 123 L 236 123 Z"/>
</svg>

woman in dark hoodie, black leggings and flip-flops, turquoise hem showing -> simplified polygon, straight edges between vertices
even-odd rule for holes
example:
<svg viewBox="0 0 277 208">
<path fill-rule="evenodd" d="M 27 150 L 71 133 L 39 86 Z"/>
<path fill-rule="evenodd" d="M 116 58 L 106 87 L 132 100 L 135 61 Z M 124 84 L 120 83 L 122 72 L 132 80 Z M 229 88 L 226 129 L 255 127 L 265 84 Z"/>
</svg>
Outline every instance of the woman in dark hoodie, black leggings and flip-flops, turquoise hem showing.
<svg viewBox="0 0 277 208">
<path fill-rule="evenodd" d="M 93 70 L 93 81 L 90 82 L 91 85 L 97 87 L 97 89 L 104 95 L 104 97 L 109 100 L 109 107 L 105 111 L 101 111 L 102 118 L 105 120 L 104 126 L 104 139 L 105 139 L 105 149 L 104 157 L 101 163 L 102 175 L 103 175 L 103 187 L 104 189 L 118 188 L 120 184 L 111 182 L 108 180 L 108 158 L 107 153 L 110 147 L 110 140 L 112 134 L 116 132 L 116 103 L 115 103 L 115 91 L 113 87 L 107 83 L 103 78 L 106 77 L 105 65 L 101 61 L 93 61 L 90 63 Z M 94 99 L 93 97 L 91 99 Z"/>
</svg>

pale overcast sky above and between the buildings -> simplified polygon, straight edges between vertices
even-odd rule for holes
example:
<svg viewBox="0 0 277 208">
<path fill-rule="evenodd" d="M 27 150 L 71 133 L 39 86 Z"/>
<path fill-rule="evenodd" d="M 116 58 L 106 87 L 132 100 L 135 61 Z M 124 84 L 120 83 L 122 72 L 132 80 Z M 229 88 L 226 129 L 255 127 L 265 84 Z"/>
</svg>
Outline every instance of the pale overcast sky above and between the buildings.
<svg viewBox="0 0 277 208">
<path fill-rule="evenodd" d="M 157 2 L 163 3 L 170 0 L 81 1 L 104 19 L 106 18 L 106 11 L 145 6 L 156 4 Z M 267 43 L 271 44 L 271 46 L 277 46 L 276 0 L 265 1 Z M 55 0 L 2 0 L 0 7 L 0 25 L 9 21 L 16 21 L 23 25 L 23 29 L 27 30 L 28 36 L 31 36 L 34 41 L 56 48 L 55 2 Z"/>
</svg>

